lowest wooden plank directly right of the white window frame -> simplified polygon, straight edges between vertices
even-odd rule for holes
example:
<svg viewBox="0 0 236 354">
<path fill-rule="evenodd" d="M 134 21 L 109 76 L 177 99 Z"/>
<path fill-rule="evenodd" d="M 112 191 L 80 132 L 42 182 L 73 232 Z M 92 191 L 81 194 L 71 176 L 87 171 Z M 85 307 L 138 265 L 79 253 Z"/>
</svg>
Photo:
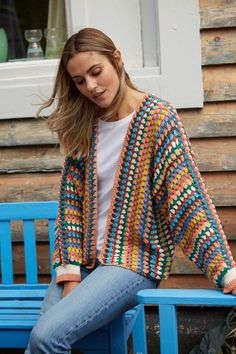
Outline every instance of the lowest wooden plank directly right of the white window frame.
<svg viewBox="0 0 236 354">
<path fill-rule="evenodd" d="M 236 100 L 236 66 L 219 65 L 202 68 L 204 101 Z"/>
</svg>

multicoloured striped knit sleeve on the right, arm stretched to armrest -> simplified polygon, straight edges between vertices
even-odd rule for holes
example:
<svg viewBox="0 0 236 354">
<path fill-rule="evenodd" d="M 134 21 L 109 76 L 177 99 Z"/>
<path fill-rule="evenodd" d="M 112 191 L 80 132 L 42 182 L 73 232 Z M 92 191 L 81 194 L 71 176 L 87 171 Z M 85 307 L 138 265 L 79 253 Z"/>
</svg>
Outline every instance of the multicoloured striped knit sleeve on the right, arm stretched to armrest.
<svg viewBox="0 0 236 354">
<path fill-rule="evenodd" d="M 155 183 L 173 241 L 221 287 L 235 266 L 215 207 L 196 166 L 180 118 L 169 104 L 159 114 Z M 160 192 L 162 190 L 162 192 Z"/>
</svg>

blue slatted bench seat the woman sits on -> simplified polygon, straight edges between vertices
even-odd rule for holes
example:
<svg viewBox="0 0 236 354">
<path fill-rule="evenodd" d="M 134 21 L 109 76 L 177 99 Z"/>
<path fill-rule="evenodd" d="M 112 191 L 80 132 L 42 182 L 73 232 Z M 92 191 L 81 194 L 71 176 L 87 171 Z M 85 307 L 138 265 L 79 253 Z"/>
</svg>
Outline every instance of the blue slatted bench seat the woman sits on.
<svg viewBox="0 0 236 354">
<path fill-rule="evenodd" d="M 43 302 L 48 284 L 0 285 L 0 347 L 25 348 Z M 110 325 L 91 333 L 76 343 L 73 348 L 84 353 L 123 353 L 118 349 L 122 341 L 127 343 L 139 306 L 127 311 Z M 117 337 L 117 339 L 115 339 Z M 111 351 L 111 342 L 114 349 Z M 127 344 L 126 344 L 127 345 Z M 125 351 L 126 353 L 126 351 Z"/>
</svg>

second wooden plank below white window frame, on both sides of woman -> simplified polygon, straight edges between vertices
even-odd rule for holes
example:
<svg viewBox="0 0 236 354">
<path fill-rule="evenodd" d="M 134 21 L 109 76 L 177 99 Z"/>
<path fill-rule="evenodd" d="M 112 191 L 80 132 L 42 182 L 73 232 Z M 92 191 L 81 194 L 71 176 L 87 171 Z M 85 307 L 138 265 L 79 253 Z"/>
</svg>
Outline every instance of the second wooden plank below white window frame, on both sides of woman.
<svg viewBox="0 0 236 354">
<path fill-rule="evenodd" d="M 194 154 L 201 171 L 235 171 L 236 139 L 192 139 Z M 3 147 L 0 149 L 0 173 L 60 171 L 64 157 L 50 146 Z"/>
</svg>

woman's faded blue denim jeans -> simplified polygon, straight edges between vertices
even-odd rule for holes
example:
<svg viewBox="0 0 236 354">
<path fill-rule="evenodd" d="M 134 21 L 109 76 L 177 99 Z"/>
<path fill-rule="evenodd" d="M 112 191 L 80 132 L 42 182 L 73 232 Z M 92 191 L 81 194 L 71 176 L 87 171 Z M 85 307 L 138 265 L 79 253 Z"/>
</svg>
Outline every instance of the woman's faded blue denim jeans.
<svg viewBox="0 0 236 354">
<path fill-rule="evenodd" d="M 141 289 L 157 281 L 131 270 L 100 264 L 81 269 L 81 283 L 62 298 L 63 285 L 52 280 L 25 354 L 69 354 L 71 346 L 137 304 Z"/>
</svg>

